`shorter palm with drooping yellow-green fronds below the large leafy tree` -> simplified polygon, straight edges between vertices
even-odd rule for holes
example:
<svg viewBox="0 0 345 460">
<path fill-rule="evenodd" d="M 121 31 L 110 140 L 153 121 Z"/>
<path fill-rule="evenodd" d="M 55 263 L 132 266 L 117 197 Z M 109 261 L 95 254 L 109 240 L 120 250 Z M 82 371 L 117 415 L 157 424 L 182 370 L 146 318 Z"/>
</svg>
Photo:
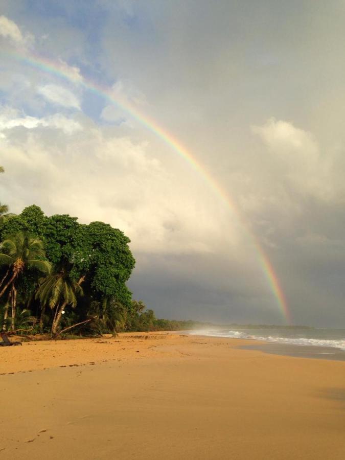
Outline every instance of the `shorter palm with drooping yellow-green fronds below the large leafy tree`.
<svg viewBox="0 0 345 460">
<path fill-rule="evenodd" d="M 72 280 L 69 273 L 63 268 L 59 273 L 52 273 L 45 277 L 37 289 L 36 299 L 39 299 L 41 302 L 42 315 L 47 305 L 52 310 L 55 309 L 51 328 L 53 336 L 58 332 L 65 308 L 68 305 L 75 308 L 77 305 L 77 296 L 83 295 L 83 289 L 80 286 L 83 281 L 84 277 L 78 282 Z"/>
</svg>

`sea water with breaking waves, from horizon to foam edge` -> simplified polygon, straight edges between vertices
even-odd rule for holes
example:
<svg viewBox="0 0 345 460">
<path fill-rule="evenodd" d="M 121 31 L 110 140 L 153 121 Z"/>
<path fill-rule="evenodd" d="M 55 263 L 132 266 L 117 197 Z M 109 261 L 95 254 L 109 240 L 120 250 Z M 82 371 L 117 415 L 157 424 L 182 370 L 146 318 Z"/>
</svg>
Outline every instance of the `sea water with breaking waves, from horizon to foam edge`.
<svg viewBox="0 0 345 460">
<path fill-rule="evenodd" d="M 228 337 L 309 347 L 336 348 L 345 351 L 345 329 L 316 328 L 236 328 L 193 331 L 191 334 Z"/>
</svg>

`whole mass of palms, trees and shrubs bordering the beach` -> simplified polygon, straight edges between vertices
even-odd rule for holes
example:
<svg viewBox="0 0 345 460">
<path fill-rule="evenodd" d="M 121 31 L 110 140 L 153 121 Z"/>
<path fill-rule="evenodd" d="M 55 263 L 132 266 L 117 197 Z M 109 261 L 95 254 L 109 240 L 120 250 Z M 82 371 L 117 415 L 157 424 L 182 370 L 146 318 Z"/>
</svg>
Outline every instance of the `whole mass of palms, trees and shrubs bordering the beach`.
<svg viewBox="0 0 345 460">
<path fill-rule="evenodd" d="M 57 336 L 72 329 L 94 335 L 191 328 L 191 321 L 156 319 L 132 300 L 129 242 L 103 222 L 48 217 L 36 205 L 8 214 L 0 203 L 1 331 Z"/>
</svg>

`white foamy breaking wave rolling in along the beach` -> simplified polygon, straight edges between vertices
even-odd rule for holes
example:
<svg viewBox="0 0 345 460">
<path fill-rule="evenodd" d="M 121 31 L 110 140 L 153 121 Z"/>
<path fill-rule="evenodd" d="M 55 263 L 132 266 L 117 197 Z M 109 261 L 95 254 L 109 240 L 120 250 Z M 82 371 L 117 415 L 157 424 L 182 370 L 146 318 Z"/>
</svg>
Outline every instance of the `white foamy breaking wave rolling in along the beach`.
<svg viewBox="0 0 345 460">
<path fill-rule="evenodd" d="M 206 335 L 210 337 L 228 337 L 228 338 L 240 338 L 240 339 L 250 339 L 250 340 L 263 340 L 266 342 L 274 343 L 287 343 L 291 345 L 301 345 L 301 346 L 312 346 L 312 347 L 329 347 L 337 348 L 345 351 L 345 339 L 341 340 L 331 340 L 331 339 L 317 339 L 317 338 L 307 338 L 307 337 L 274 337 L 268 335 L 266 337 L 258 335 L 250 335 L 245 332 L 240 331 L 193 331 L 192 335 Z"/>
</svg>

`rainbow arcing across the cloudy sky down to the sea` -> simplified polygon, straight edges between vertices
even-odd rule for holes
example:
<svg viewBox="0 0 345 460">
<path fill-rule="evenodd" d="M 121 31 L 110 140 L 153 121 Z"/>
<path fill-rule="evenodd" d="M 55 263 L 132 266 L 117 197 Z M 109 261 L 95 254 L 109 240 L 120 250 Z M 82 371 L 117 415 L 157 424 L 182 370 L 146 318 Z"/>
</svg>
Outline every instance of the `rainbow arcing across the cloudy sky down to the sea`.
<svg viewBox="0 0 345 460">
<path fill-rule="evenodd" d="M 199 175 L 209 184 L 213 192 L 221 199 L 221 201 L 229 208 L 234 214 L 236 214 L 239 222 L 241 223 L 243 229 L 251 240 L 260 262 L 261 269 L 265 274 L 270 290 L 272 291 L 279 309 L 288 324 L 291 324 L 290 311 L 286 302 L 286 298 L 282 287 L 280 285 L 277 274 L 275 273 L 271 262 L 261 248 L 257 237 L 252 234 L 247 228 L 246 223 L 244 222 L 240 211 L 236 208 L 235 203 L 228 196 L 227 192 L 216 182 L 214 177 L 206 170 L 206 168 L 197 160 L 197 158 L 187 150 L 171 133 L 169 133 L 165 128 L 159 126 L 159 124 L 147 116 L 147 114 L 142 113 L 137 110 L 136 107 L 132 106 L 128 101 L 122 100 L 119 95 L 114 96 L 110 88 L 102 87 L 99 84 L 85 79 L 80 75 L 79 70 L 76 67 L 68 66 L 63 61 L 52 61 L 38 56 L 34 53 L 27 54 L 28 52 L 11 52 L 6 53 L 7 57 L 14 59 L 15 61 L 29 65 L 31 67 L 37 68 L 39 71 L 54 75 L 56 77 L 62 78 L 74 84 L 81 86 L 91 93 L 96 94 L 97 96 L 103 98 L 112 105 L 116 105 L 125 112 L 129 113 L 130 116 L 138 121 L 141 125 L 145 126 L 148 130 L 153 132 L 159 139 L 165 142 L 168 146 L 171 147 L 183 160 L 185 160 L 191 167 L 199 173 Z M 5 54 L 5 53 L 3 53 Z"/>
</svg>

